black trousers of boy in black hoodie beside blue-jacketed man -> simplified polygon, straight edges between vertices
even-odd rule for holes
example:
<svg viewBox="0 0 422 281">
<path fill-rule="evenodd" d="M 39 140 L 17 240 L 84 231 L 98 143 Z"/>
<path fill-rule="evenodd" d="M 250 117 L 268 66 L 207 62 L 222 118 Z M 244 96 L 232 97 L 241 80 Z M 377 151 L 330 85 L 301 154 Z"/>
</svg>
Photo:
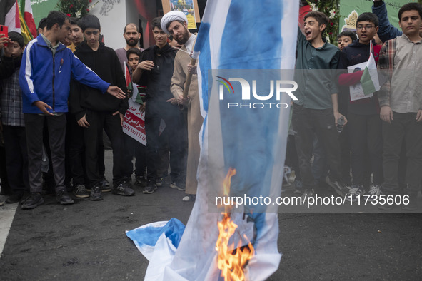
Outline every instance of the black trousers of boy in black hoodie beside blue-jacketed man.
<svg viewBox="0 0 422 281">
<path fill-rule="evenodd" d="M 98 153 L 102 143 L 103 128 L 113 148 L 113 184 L 119 185 L 126 180 L 128 175 L 131 175 L 132 170 L 132 163 L 126 159 L 124 133 L 120 125 L 119 114 L 113 116 L 112 112 L 87 110 L 86 121 L 88 121 L 89 127 L 84 129 L 85 165 L 89 186 L 99 184 L 103 177 L 100 173 Z M 128 162 L 130 162 L 130 166 Z"/>
</svg>

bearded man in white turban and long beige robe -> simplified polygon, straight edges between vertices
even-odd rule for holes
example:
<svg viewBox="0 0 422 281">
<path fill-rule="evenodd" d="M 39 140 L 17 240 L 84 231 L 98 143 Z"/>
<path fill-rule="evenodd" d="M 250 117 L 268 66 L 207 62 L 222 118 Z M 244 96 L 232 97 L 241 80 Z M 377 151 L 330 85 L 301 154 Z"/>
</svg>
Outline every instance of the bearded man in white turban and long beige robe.
<svg viewBox="0 0 422 281">
<path fill-rule="evenodd" d="M 204 118 L 201 116 L 198 77 L 192 74 L 191 86 L 188 97 L 184 98 L 184 85 L 188 72 L 196 72 L 196 68 L 189 66 L 191 60 L 189 54 L 194 50 L 196 34 L 191 34 L 188 30 L 188 19 L 181 11 L 171 11 L 161 19 L 161 29 L 170 34 L 176 41 L 183 45 L 174 58 L 174 72 L 171 78 L 171 93 L 180 105 L 188 108 L 188 161 L 186 168 L 186 196 L 184 201 L 193 201 L 196 195 L 198 181 L 196 180 L 196 170 L 199 163 L 199 131 L 201 130 Z"/>
</svg>

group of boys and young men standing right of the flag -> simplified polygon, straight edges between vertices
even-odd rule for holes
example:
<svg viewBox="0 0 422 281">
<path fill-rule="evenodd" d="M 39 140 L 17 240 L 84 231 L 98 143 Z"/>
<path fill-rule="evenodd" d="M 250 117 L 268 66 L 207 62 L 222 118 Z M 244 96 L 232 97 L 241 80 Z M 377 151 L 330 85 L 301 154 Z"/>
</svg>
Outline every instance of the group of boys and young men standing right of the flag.
<svg viewBox="0 0 422 281">
<path fill-rule="evenodd" d="M 298 101 L 293 103 L 286 164 L 293 167 L 295 192 L 303 198 L 326 183 L 351 201 L 364 194 L 369 200 L 407 195 L 409 204 L 402 209 L 416 210 L 422 181 L 422 8 L 417 3 L 401 7 L 402 31 L 388 21 L 383 1 L 373 1 L 372 10 L 358 16 L 356 34 L 338 34 L 339 48 L 323 40 L 329 22 L 325 14 L 311 11 L 299 21 Z M 353 99 L 352 88 L 364 75 L 365 66 L 358 64 L 367 63 L 370 55 L 378 63 L 381 88 Z M 378 205 L 381 210 L 394 207 Z"/>
</svg>

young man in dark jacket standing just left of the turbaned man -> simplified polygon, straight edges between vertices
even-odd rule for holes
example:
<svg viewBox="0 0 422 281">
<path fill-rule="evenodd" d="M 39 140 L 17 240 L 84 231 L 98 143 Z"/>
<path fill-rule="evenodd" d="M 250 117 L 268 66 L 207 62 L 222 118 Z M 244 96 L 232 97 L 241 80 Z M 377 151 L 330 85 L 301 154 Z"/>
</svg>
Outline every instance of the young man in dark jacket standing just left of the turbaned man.
<svg viewBox="0 0 422 281">
<path fill-rule="evenodd" d="M 154 193 L 159 168 L 160 144 L 169 140 L 171 188 L 185 190 L 186 181 L 186 126 L 183 113 L 179 111 L 170 91 L 174 70 L 174 57 L 177 50 L 167 43 L 167 34 L 161 29 L 161 17 L 151 21 L 152 34 L 156 45 L 147 48 L 133 74 L 135 82 L 141 78 L 148 81 L 145 103 L 146 128 L 146 171 L 147 184 L 142 190 L 145 194 Z M 160 133 L 161 119 L 166 123 Z"/>
</svg>

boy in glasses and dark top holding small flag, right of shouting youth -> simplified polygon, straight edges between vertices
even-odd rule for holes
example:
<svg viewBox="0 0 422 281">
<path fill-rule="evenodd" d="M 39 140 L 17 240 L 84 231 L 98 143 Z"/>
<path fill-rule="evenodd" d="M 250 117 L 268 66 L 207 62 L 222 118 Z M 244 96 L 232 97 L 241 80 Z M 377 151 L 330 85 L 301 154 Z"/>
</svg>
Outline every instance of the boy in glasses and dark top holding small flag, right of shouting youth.
<svg viewBox="0 0 422 281">
<path fill-rule="evenodd" d="M 348 66 L 368 61 L 371 51 L 378 61 L 381 46 L 375 45 L 373 40 L 378 31 L 377 16 L 373 13 L 361 14 L 356 21 L 356 30 L 359 39 L 343 48 L 340 53 L 338 69 L 344 69 L 343 72 L 346 72 L 338 78 L 338 83 L 341 86 L 353 86 L 360 83 L 363 71 L 347 73 Z M 371 41 L 373 42 L 373 50 L 371 50 Z M 343 94 L 347 94 L 348 98 L 350 97 L 349 91 Z M 347 118 L 353 185 L 346 199 L 355 201 L 366 192 L 369 195 L 379 195 L 379 187 L 383 183 L 383 139 L 376 95 L 358 101 L 350 101 Z M 370 172 L 368 173 L 368 170 L 373 173 L 373 185 L 371 187 L 365 186 L 370 183 Z"/>
</svg>

